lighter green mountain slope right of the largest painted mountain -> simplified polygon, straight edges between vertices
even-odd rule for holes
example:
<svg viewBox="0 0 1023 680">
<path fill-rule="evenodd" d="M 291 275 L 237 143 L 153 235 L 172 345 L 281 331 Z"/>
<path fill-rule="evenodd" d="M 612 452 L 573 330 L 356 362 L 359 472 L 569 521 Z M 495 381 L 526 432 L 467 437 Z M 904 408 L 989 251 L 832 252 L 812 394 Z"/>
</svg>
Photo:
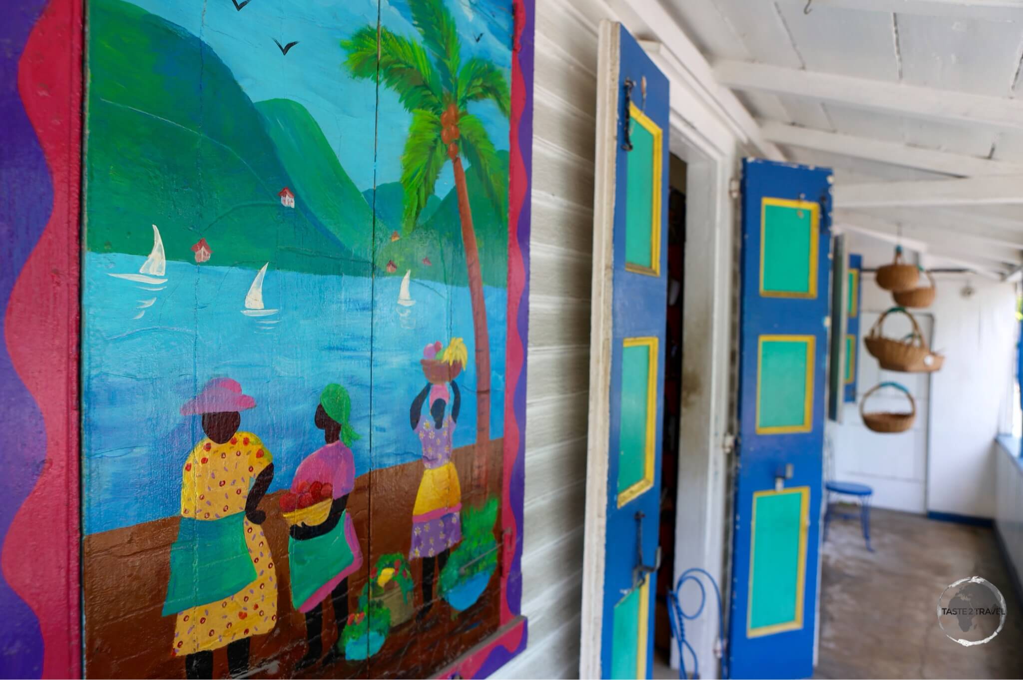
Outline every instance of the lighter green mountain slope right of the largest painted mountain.
<svg viewBox="0 0 1023 680">
<path fill-rule="evenodd" d="M 295 193 L 342 243 L 368 261 L 372 209 L 341 167 L 319 124 L 305 106 L 291 99 L 259 101 L 256 109 L 292 178 Z"/>
</svg>

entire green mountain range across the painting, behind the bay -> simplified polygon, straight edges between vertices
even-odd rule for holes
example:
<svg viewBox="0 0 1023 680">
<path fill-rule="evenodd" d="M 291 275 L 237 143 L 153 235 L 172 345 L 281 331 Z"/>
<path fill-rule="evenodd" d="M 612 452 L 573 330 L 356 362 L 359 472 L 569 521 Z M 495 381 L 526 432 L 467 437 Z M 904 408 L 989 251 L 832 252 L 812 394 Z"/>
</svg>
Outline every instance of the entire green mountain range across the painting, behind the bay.
<svg viewBox="0 0 1023 680">
<path fill-rule="evenodd" d="M 360 192 L 302 104 L 254 104 L 206 43 L 123 0 L 93 0 L 89 21 L 89 251 L 146 255 L 155 224 L 168 260 L 191 261 L 206 238 L 214 265 L 368 275 L 372 260 L 381 275 L 393 262 L 393 274 L 468 284 L 454 189 L 392 241 L 401 183 Z M 508 154 L 497 155 L 506 176 Z M 295 208 L 277 195 L 285 186 Z M 468 191 L 484 282 L 503 287 L 506 191 L 502 214 L 475 173 Z"/>
</svg>

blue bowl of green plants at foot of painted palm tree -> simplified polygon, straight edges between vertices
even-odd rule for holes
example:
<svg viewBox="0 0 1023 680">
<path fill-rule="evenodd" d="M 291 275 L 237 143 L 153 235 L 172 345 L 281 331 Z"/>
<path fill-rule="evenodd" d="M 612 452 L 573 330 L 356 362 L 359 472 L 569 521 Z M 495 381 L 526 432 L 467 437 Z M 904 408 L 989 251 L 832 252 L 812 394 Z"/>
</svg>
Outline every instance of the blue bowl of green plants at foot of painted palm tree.
<svg viewBox="0 0 1023 680">
<path fill-rule="evenodd" d="M 454 609 L 461 611 L 475 604 L 497 569 L 496 520 L 496 498 L 483 507 L 466 507 L 461 511 L 461 543 L 451 551 L 441 570 L 440 583 L 441 595 Z"/>
</svg>

